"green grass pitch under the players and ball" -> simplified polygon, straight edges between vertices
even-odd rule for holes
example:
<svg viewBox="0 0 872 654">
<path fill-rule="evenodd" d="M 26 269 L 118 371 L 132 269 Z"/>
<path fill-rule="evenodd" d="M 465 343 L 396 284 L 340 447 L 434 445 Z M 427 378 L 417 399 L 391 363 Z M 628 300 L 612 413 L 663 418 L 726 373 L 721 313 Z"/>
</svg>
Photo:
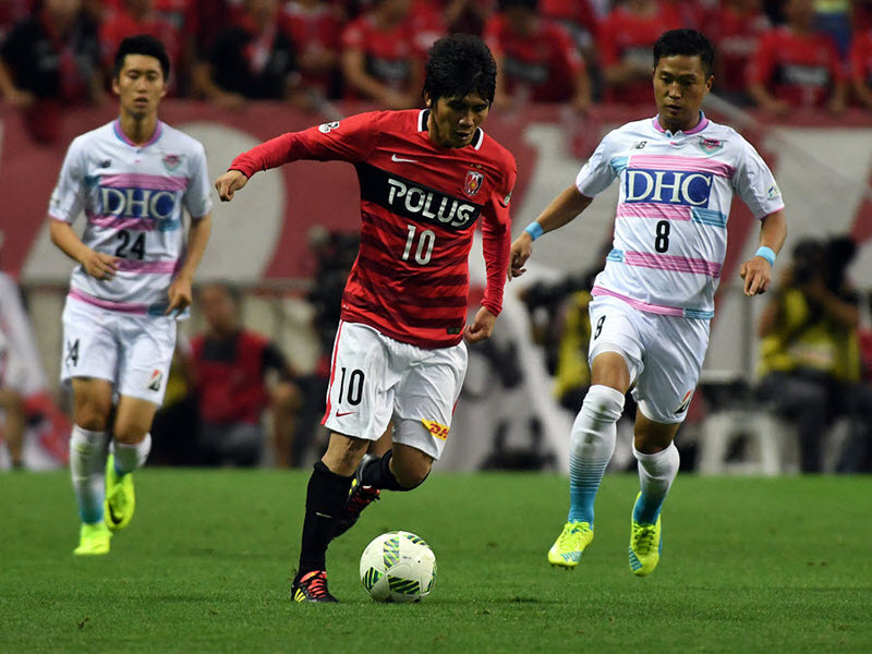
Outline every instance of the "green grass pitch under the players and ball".
<svg viewBox="0 0 872 654">
<path fill-rule="evenodd" d="M 145 470 L 106 557 L 78 559 L 69 477 L 0 475 L 3 652 L 869 652 L 872 479 L 679 476 L 657 571 L 627 564 L 635 475 L 606 477 L 574 572 L 545 553 L 567 481 L 438 472 L 329 553 L 339 605 L 288 600 L 307 474 Z M 419 533 L 439 576 L 380 605 L 358 561 Z"/>
</svg>

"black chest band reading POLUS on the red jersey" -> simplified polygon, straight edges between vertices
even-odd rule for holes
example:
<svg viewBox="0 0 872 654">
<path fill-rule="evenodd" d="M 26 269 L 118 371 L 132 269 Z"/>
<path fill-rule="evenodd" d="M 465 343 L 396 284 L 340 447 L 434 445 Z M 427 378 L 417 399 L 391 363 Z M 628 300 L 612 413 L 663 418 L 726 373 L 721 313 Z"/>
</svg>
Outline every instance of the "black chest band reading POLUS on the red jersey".
<svg viewBox="0 0 872 654">
<path fill-rule="evenodd" d="M 358 165 L 361 198 L 415 222 L 462 230 L 473 225 L 482 205 L 429 189 L 368 164 Z"/>
</svg>

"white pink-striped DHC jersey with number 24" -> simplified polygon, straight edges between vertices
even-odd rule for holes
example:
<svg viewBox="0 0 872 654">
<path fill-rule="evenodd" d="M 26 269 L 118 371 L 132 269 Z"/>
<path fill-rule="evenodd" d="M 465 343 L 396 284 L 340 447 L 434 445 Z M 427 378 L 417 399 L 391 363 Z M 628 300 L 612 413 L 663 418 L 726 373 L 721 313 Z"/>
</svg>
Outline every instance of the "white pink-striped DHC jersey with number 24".
<svg viewBox="0 0 872 654">
<path fill-rule="evenodd" d="M 82 242 L 121 257 L 112 280 L 76 266 L 71 293 L 133 313 L 162 314 L 167 290 L 185 253 L 183 210 L 192 219 L 211 211 L 203 145 L 158 122 L 136 145 L 112 121 L 76 137 L 66 150 L 48 214 L 72 225 L 84 213 Z"/>
</svg>

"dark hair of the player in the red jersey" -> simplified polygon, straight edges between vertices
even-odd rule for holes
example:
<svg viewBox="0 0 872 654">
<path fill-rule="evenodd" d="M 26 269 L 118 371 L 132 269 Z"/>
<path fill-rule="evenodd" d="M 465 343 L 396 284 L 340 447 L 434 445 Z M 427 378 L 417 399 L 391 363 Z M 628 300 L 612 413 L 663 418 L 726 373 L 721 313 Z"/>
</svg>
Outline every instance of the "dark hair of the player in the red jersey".
<svg viewBox="0 0 872 654">
<path fill-rule="evenodd" d="M 493 102 L 496 87 L 497 64 L 481 38 L 451 34 L 433 44 L 422 90 L 433 106 L 439 98 L 462 98 L 470 93 Z"/>
</svg>

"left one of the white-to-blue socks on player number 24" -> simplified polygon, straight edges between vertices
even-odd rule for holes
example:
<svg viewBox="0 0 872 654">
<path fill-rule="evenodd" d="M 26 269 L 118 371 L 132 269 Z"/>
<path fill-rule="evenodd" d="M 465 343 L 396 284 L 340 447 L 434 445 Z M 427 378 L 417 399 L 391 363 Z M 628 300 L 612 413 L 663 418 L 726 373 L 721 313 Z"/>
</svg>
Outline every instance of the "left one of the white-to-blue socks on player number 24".
<svg viewBox="0 0 872 654">
<path fill-rule="evenodd" d="M 82 522 L 102 522 L 106 432 L 90 432 L 73 425 L 70 435 L 70 474 Z"/>
</svg>

